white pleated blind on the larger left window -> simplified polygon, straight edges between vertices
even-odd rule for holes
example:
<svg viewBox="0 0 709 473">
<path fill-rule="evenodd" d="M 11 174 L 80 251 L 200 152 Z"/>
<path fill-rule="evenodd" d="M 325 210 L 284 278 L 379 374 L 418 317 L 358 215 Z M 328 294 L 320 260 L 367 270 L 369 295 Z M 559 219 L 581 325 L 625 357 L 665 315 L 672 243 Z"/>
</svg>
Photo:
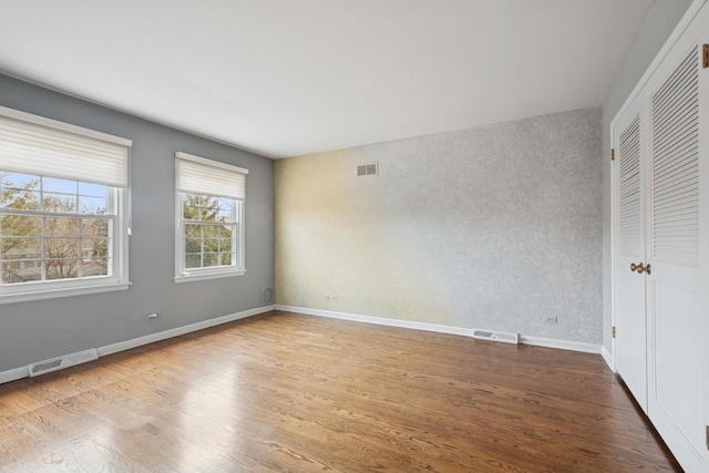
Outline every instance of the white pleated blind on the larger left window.
<svg viewBox="0 0 709 473">
<path fill-rule="evenodd" d="M 132 142 L 0 106 L 0 169 L 127 188 Z"/>
</svg>

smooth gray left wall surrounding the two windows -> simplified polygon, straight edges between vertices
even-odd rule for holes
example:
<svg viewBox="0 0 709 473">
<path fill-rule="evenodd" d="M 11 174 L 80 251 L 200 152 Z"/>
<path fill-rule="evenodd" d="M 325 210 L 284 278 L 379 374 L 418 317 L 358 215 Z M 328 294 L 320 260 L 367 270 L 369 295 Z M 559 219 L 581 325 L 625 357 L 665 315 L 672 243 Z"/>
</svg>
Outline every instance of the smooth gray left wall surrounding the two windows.
<svg viewBox="0 0 709 473">
<path fill-rule="evenodd" d="M 0 371 L 261 306 L 260 288 L 274 287 L 273 161 L 3 75 L 0 105 L 133 140 L 131 288 L 0 305 Z M 249 169 L 245 276 L 173 282 L 176 151 Z"/>
</svg>

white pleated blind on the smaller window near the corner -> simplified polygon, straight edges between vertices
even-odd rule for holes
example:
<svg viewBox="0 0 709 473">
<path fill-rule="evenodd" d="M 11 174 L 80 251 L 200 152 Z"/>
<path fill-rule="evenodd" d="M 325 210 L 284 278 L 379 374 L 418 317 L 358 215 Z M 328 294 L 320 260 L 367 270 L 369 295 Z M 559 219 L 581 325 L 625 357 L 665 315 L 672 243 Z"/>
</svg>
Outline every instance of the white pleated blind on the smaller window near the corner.
<svg viewBox="0 0 709 473">
<path fill-rule="evenodd" d="M 175 153 L 177 191 L 246 200 L 248 169 L 187 153 Z"/>
</svg>

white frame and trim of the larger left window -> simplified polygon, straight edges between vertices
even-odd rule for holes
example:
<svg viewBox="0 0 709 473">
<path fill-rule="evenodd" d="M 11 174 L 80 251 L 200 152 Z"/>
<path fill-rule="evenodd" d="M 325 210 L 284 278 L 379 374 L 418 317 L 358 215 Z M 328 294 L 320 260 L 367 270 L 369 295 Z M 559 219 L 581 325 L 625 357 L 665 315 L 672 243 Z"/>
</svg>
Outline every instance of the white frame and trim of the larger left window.
<svg viewBox="0 0 709 473">
<path fill-rule="evenodd" d="M 43 281 L 28 281 L 28 282 L 0 282 L 0 305 L 27 302 L 33 300 L 54 299 L 61 297 L 72 297 L 89 294 L 109 292 L 116 290 L 125 290 L 130 287 L 129 279 L 129 236 L 131 232 L 131 186 L 130 186 L 130 146 L 132 142 L 117 136 L 107 135 L 101 132 L 96 132 L 89 128 L 83 128 L 76 125 L 59 122 L 55 120 L 45 119 L 38 115 L 32 115 L 25 112 L 20 112 L 12 109 L 0 106 L 0 116 L 11 119 L 18 122 L 27 122 L 30 124 L 42 125 L 49 131 L 56 131 L 59 133 L 68 132 L 79 136 L 85 136 L 93 140 L 105 141 L 106 143 L 115 143 L 127 148 L 126 161 L 126 174 L 127 186 L 125 188 L 107 185 L 109 195 L 107 198 L 113 200 L 113 207 L 115 214 L 107 215 L 112 219 L 113 224 L 110 228 L 113 230 L 109 236 L 112 244 L 110 245 L 110 258 L 111 268 L 109 275 L 90 276 L 82 278 L 60 279 L 60 280 L 43 280 Z M 88 161 L 90 158 L 86 158 Z M 51 173 L 43 174 L 42 169 L 35 169 L 32 173 L 25 171 L 14 171 L 11 168 L 2 168 L 0 171 L 9 173 L 21 173 L 37 175 L 41 177 L 56 177 Z M 60 176 L 60 179 L 72 181 L 69 177 Z M 82 179 L 73 179 L 78 182 L 86 182 Z M 105 184 L 103 184 L 105 185 Z M 12 208 L 0 207 L 0 215 L 6 214 L 24 214 L 40 217 L 52 217 L 52 212 L 32 210 L 23 212 Z M 86 218 L 86 215 L 76 213 L 76 218 Z M 68 216 L 66 214 L 59 214 L 58 216 Z M 73 216 L 73 214 L 72 214 Z M 42 240 L 47 236 L 42 235 Z"/>
</svg>

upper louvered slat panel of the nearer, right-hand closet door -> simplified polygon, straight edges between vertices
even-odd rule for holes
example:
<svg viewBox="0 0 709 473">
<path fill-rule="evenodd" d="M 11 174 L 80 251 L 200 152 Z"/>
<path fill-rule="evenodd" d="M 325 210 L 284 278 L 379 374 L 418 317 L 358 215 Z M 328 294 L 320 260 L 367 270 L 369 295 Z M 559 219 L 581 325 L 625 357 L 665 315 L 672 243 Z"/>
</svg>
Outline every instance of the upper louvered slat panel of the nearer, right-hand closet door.
<svg viewBox="0 0 709 473">
<path fill-rule="evenodd" d="M 657 260 L 697 266 L 699 257 L 699 109 L 696 48 L 653 95 L 653 251 Z"/>
</svg>

